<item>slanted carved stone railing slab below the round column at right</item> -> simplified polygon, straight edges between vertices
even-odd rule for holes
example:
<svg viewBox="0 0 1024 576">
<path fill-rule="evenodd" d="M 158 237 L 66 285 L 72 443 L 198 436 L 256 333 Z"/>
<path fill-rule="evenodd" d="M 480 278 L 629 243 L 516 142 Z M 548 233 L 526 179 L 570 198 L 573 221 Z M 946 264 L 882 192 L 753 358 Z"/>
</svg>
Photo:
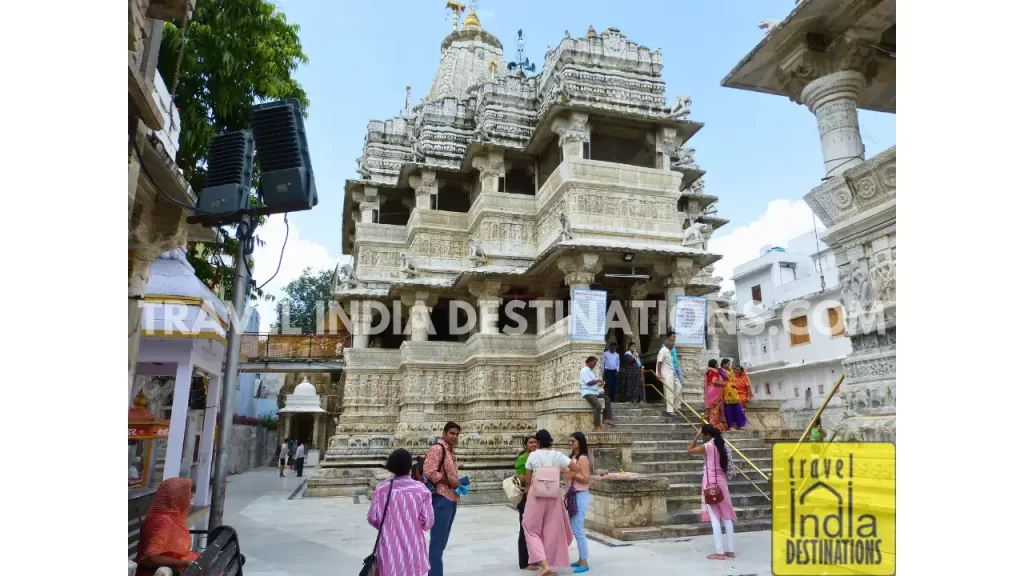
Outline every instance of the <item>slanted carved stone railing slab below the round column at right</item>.
<svg viewBox="0 0 1024 576">
<path fill-rule="evenodd" d="M 828 228 L 895 199 L 895 146 L 804 196 L 804 201 Z"/>
</svg>

